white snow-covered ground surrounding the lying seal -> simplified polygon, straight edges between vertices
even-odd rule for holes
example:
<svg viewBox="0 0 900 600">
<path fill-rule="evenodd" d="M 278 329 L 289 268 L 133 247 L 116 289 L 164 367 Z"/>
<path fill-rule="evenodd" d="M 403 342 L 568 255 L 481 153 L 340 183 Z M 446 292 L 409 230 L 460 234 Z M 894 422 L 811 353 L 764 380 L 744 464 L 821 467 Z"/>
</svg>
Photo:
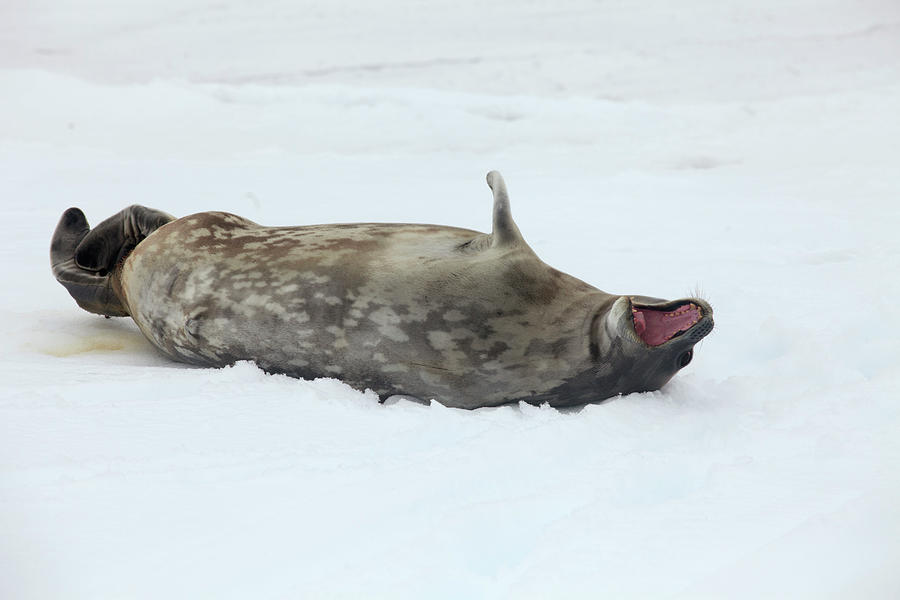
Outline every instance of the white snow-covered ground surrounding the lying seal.
<svg viewBox="0 0 900 600">
<path fill-rule="evenodd" d="M 895 0 L 0 7 L 0 597 L 900 595 Z M 490 227 L 699 289 L 661 392 L 379 405 L 80 311 L 80 206 Z"/>
</svg>

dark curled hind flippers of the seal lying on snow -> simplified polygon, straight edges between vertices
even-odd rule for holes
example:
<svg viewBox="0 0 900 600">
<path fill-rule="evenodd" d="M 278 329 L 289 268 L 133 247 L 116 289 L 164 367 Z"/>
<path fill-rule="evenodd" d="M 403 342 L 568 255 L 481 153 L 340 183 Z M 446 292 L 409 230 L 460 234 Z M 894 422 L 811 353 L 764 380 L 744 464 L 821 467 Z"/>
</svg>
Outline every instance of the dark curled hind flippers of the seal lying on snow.
<svg viewBox="0 0 900 600">
<path fill-rule="evenodd" d="M 117 291 L 118 268 L 145 237 L 173 219 L 134 205 L 91 229 L 81 209 L 70 208 L 60 217 L 50 241 L 53 276 L 84 310 L 127 317 L 128 309 Z"/>
</svg>

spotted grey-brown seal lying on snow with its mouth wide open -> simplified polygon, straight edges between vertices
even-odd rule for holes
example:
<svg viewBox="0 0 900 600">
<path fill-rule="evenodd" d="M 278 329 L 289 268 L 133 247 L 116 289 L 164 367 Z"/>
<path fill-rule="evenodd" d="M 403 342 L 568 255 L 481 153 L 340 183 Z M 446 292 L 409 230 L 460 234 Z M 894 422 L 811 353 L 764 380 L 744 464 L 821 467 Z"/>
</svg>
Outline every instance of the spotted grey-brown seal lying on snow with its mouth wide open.
<svg viewBox="0 0 900 600">
<path fill-rule="evenodd" d="M 53 274 L 79 306 L 131 316 L 166 356 L 461 408 L 657 390 L 713 328 L 697 298 L 602 292 L 543 263 L 494 194 L 490 234 L 437 225 L 264 227 L 223 212 L 70 208 Z"/>
</svg>

